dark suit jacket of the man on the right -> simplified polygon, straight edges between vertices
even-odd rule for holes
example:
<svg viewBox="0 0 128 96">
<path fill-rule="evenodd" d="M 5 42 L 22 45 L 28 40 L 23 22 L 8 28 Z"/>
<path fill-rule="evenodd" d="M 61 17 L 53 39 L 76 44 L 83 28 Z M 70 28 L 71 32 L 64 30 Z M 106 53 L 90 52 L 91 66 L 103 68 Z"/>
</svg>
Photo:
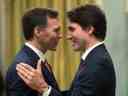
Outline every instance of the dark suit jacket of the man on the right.
<svg viewBox="0 0 128 96">
<path fill-rule="evenodd" d="M 81 60 L 70 90 L 64 96 L 115 96 L 115 71 L 104 44 Z M 59 92 L 58 92 L 59 93 Z M 61 96 L 54 89 L 51 96 Z"/>
</svg>

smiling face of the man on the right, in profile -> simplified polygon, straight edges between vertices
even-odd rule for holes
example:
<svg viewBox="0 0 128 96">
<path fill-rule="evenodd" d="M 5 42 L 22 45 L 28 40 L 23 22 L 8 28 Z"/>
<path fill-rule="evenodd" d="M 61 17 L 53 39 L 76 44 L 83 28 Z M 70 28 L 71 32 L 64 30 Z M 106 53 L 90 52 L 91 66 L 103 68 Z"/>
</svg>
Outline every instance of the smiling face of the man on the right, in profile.
<svg viewBox="0 0 128 96">
<path fill-rule="evenodd" d="M 68 39 L 71 40 L 75 51 L 84 50 L 86 47 L 86 37 L 88 34 L 77 23 L 70 22 L 68 25 Z"/>
</svg>

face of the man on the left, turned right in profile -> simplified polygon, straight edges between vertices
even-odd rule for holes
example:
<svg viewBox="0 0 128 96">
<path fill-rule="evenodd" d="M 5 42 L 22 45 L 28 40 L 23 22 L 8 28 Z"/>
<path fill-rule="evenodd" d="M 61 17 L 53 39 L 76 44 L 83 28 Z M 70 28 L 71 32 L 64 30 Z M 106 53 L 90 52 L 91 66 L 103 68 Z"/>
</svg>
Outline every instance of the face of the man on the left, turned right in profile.
<svg viewBox="0 0 128 96">
<path fill-rule="evenodd" d="M 47 50 L 56 50 L 60 38 L 60 23 L 58 19 L 48 18 L 47 27 L 40 35 L 40 44 Z"/>
</svg>

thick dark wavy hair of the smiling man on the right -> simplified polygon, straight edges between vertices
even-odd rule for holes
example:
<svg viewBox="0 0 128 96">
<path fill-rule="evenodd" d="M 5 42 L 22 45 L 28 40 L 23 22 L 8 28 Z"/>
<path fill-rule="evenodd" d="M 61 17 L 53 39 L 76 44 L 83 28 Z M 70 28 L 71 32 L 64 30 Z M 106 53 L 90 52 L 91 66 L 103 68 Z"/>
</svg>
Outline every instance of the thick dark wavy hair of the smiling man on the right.
<svg viewBox="0 0 128 96">
<path fill-rule="evenodd" d="M 67 12 L 69 21 L 78 23 L 82 28 L 93 26 L 96 38 L 105 39 L 106 17 L 103 11 L 96 5 L 84 5 Z"/>
</svg>

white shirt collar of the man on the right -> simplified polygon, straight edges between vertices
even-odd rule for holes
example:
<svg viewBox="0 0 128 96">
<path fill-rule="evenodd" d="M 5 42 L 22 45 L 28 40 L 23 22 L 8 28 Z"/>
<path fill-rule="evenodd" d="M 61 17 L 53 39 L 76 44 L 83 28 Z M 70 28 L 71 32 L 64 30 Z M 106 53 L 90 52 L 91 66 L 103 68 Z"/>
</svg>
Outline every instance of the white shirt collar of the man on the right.
<svg viewBox="0 0 128 96">
<path fill-rule="evenodd" d="M 95 45 L 93 45 L 92 47 L 90 47 L 90 48 L 88 48 L 88 49 L 86 49 L 86 51 L 83 53 L 83 55 L 82 55 L 82 60 L 85 60 L 86 58 L 87 58 L 87 56 L 88 56 L 88 54 L 94 49 L 94 48 L 96 48 L 97 46 L 99 46 L 99 45 L 101 45 L 101 44 L 103 44 L 104 42 L 102 41 L 102 42 L 98 42 L 98 43 L 96 43 Z"/>
</svg>

